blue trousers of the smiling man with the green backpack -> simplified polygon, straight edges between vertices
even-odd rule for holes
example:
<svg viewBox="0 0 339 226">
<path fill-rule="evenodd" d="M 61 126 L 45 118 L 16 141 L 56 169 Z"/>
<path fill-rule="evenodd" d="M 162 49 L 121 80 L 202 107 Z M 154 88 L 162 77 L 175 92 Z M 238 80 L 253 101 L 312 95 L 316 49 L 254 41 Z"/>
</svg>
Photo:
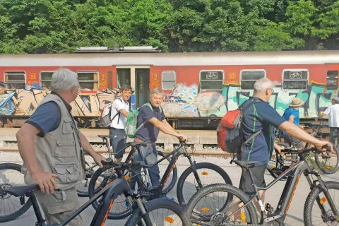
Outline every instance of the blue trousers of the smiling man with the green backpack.
<svg viewBox="0 0 339 226">
<path fill-rule="evenodd" d="M 138 150 L 135 150 L 135 153 L 133 153 L 133 160 L 134 162 L 143 161 L 146 165 L 153 165 L 155 162 L 157 162 L 157 149 L 155 148 L 155 145 L 141 145 L 140 152 L 141 156 L 138 154 Z M 141 170 L 134 170 L 132 172 L 132 177 L 138 173 L 140 173 Z M 152 183 L 152 186 L 157 186 L 160 184 L 160 171 L 159 166 L 155 165 L 154 167 L 151 167 L 150 170 L 150 182 Z M 136 177 L 133 177 L 130 182 L 131 189 L 135 189 L 136 186 Z"/>
</svg>

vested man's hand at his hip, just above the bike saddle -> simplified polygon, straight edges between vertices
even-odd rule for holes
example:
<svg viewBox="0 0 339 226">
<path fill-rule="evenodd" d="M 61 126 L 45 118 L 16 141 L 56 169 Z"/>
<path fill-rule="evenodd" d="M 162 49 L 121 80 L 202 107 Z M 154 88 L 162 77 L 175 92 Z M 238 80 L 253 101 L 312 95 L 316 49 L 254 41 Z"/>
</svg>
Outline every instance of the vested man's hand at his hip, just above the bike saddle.
<svg viewBox="0 0 339 226">
<path fill-rule="evenodd" d="M 35 183 L 39 184 L 42 193 L 49 194 L 54 192 L 54 189 L 58 188 L 57 182 L 54 178 L 59 178 L 57 174 L 51 174 L 44 172 L 42 169 L 32 174 L 32 179 Z"/>
</svg>

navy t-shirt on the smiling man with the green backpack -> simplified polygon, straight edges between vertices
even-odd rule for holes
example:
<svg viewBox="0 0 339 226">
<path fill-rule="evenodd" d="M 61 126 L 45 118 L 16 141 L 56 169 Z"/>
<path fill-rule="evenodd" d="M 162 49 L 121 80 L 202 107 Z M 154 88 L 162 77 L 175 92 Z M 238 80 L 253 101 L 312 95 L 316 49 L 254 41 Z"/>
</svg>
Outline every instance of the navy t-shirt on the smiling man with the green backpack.
<svg viewBox="0 0 339 226">
<path fill-rule="evenodd" d="M 150 107 L 147 105 L 144 105 L 143 107 L 140 108 L 138 118 L 136 121 L 136 128 L 138 128 L 138 126 L 140 126 L 144 121 L 148 121 L 153 117 L 159 119 L 159 121 L 165 119 L 165 114 L 163 111 L 160 112 L 160 107 L 155 108 L 152 106 L 152 109 L 150 109 Z M 159 129 L 157 129 L 157 127 L 155 127 L 149 121 L 146 122 L 143 126 L 141 126 L 141 129 L 136 131 L 136 137 L 148 143 L 157 141 L 158 135 Z"/>
</svg>

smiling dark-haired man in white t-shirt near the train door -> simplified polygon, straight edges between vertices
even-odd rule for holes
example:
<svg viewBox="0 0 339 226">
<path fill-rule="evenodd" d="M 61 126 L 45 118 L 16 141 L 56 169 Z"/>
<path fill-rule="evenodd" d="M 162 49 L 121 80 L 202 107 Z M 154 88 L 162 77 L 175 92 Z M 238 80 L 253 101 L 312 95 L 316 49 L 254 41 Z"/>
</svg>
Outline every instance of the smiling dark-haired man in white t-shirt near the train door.
<svg viewBox="0 0 339 226">
<path fill-rule="evenodd" d="M 114 100 L 111 110 L 111 128 L 109 129 L 109 141 L 111 142 L 114 161 L 120 162 L 124 156 L 126 147 L 126 119 L 129 116 L 129 98 L 132 95 L 131 85 L 121 88 L 121 96 Z"/>
</svg>

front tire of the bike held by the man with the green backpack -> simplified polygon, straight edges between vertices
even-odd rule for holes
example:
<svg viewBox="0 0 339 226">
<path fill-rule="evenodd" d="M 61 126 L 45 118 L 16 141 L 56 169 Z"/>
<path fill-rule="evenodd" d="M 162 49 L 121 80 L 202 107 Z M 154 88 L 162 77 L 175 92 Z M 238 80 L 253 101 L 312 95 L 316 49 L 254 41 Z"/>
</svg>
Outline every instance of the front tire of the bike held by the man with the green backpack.
<svg viewBox="0 0 339 226">
<path fill-rule="evenodd" d="M 215 165 L 210 162 L 199 162 L 196 164 L 196 169 L 211 169 L 215 172 L 218 172 L 218 174 L 224 179 L 225 184 L 230 184 L 232 185 L 232 180 L 230 179 L 230 176 L 228 176 L 227 172 L 225 172 L 224 169 L 219 167 L 218 165 Z M 186 206 L 186 201 L 184 198 L 184 182 L 186 181 L 187 177 L 189 177 L 189 174 L 193 174 L 193 169 L 192 167 L 187 168 L 183 173 L 182 176 L 179 177 L 179 181 L 177 184 L 177 198 L 178 202 L 182 206 Z M 223 183 L 223 182 L 218 182 Z M 210 184 L 208 184 L 210 185 Z M 193 196 L 193 195 L 192 195 Z M 189 197 L 191 198 L 191 197 Z M 186 200 L 189 200 L 189 198 L 186 198 Z"/>
</svg>

